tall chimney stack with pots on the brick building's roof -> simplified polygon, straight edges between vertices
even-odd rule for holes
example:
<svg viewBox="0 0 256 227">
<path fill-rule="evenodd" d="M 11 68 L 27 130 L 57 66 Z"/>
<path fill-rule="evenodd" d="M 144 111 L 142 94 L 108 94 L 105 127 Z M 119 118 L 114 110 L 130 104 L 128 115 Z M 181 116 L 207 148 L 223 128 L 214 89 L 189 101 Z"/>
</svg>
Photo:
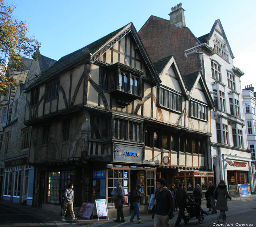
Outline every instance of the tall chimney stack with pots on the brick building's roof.
<svg viewBox="0 0 256 227">
<path fill-rule="evenodd" d="M 170 25 L 174 25 L 177 27 L 185 27 L 185 16 L 184 9 L 182 8 L 182 4 L 177 4 L 172 7 L 172 12 L 170 12 Z"/>
</svg>

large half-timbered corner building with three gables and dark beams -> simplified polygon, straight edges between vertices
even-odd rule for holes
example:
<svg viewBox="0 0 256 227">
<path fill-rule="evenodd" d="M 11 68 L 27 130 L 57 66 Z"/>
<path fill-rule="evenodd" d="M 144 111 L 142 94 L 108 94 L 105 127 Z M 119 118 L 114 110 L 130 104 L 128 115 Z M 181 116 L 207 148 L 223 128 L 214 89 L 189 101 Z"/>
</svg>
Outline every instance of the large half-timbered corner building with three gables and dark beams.
<svg viewBox="0 0 256 227">
<path fill-rule="evenodd" d="M 116 215 L 111 192 L 119 180 L 125 212 L 129 191 L 142 185 L 143 211 L 158 173 L 207 171 L 213 104 L 200 72 L 184 78 L 173 56 L 151 62 L 132 23 L 31 78 L 25 123 L 33 126 L 34 205 L 59 211 L 73 182 L 74 207 L 106 199 Z"/>
</svg>

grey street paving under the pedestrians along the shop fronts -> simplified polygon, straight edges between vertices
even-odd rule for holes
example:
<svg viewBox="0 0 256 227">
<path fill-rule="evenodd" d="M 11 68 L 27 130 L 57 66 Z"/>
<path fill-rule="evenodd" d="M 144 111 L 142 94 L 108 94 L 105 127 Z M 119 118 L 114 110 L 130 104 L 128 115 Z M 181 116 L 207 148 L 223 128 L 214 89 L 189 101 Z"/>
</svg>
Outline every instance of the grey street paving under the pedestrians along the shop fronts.
<svg viewBox="0 0 256 227">
<path fill-rule="evenodd" d="M 217 224 L 217 214 L 214 215 L 204 215 L 203 224 L 199 224 L 198 220 L 189 220 L 185 225 L 183 220 L 181 221 L 181 226 L 193 226 L 200 225 L 200 227 L 205 226 L 256 226 L 256 195 L 243 196 L 240 198 L 234 198 L 228 200 L 228 211 L 226 212 L 226 223 Z M 54 213 L 51 211 L 45 211 L 37 208 L 30 207 L 23 204 L 15 204 L 8 201 L 0 200 L 0 205 L 6 209 L 14 209 L 19 212 L 29 214 L 37 218 L 43 226 L 47 227 L 134 227 L 137 225 L 136 217 L 134 219 L 135 223 L 129 222 L 130 216 L 125 217 L 126 222 L 116 223 L 112 219 L 101 218 L 98 219 L 84 219 L 78 217 L 76 222 L 71 222 L 71 217 L 67 217 L 67 222 L 61 221 L 60 213 Z M 207 211 L 206 200 L 202 201 L 202 208 Z M 178 212 L 175 212 L 175 217 L 170 220 L 170 226 L 175 226 L 175 222 L 178 216 Z M 142 213 L 141 220 L 144 224 L 140 226 L 153 227 L 154 221 L 151 218 L 151 214 Z M 1 224 L 0 224 L 1 226 Z"/>
</svg>

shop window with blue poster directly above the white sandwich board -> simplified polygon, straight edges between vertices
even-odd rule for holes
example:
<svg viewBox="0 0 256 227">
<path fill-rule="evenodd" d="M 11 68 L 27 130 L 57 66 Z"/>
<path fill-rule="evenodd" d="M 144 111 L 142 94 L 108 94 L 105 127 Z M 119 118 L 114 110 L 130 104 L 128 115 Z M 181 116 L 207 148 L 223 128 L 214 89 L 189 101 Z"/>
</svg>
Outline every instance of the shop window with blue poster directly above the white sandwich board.
<svg viewBox="0 0 256 227">
<path fill-rule="evenodd" d="M 106 199 L 106 170 L 93 171 L 92 199 Z"/>
</svg>

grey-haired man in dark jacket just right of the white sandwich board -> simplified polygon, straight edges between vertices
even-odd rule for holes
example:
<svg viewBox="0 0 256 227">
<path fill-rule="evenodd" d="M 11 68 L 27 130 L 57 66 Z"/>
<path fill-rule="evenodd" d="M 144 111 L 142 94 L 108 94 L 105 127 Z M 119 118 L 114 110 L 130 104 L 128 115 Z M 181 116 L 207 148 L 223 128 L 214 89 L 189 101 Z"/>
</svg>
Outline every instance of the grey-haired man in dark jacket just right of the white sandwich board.
<svg viewBox="0 0 256 227">
<path fill-rule="evenodd" d="M 116 215 L 116 220 L 114 222 L 125 222 L 124 220 L 124 211 L 123 211 L 123 206 L 124 206 L 124 188 L 120 185 L 119 181 L 116 181 L 116 191 L 117 191 L 117 199 L 114 199 L 115 207 L 117 209 L 117 215 Z M 121 218 L 121 220 L 120 220 Z"/>
</svg>

